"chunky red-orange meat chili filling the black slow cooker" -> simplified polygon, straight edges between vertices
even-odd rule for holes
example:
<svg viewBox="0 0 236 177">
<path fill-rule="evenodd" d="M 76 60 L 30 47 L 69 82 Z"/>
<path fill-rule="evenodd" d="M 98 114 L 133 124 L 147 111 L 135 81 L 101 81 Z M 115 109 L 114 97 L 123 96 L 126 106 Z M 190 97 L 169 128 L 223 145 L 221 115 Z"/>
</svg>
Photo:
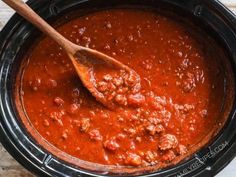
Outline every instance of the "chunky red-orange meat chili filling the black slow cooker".
<svg viewBox="0 0 236 177">
<path fill-rule="evenodd" d="M 48 37 L 41 39 L 27 57 L 22 100 L 35 129 L 62 151 L 99 164 L 168 164 L 191 151 L 219 122 L 224 94 L 216 62 L 220 50 L 191 24 L 151 11 L 119 9 L 82 16 L 57 29 L 123 62 L 141 79 L 140 91 L 124 100 L 117 92 L 122 78 L 100 69 L 103 81 L 113 83 L 101 80 L 100 89 L 115 87 L 120 105 L 107 109 L 83 87 L 62 48 Z"/>
</svg>

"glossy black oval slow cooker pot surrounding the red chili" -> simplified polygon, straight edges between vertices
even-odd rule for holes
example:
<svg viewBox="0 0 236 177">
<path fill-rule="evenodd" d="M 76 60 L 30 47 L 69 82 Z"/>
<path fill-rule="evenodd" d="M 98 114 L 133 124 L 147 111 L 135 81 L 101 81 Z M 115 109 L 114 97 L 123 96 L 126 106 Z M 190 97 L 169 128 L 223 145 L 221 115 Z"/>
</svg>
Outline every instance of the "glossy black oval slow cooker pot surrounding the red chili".
<svg viewBox="0 0 236 177">
<path fill-rule="evenodd" d="M 236 17 L 217 0 L 30 0 L 49 22 L 71 11 L 150 7 L 174 11 L 197 23 L 225 48 L 236 76 Z M 57 159 L 25 131 L 14 107 L 13 90 L 24 49 L 40 33 L 14 15 L 0 33 L 0 141 L 25 168 L 39 176 L 109 176 L 85 171 Z M 214 176 L 236 155 L 235 100 L 228 121 L 207 147 L 176 166 L 143 176 Z M 216 153 L 217 152 L 217 153 Z M 127 175 L 125 175 L 127 176 Z"/>
</svg>

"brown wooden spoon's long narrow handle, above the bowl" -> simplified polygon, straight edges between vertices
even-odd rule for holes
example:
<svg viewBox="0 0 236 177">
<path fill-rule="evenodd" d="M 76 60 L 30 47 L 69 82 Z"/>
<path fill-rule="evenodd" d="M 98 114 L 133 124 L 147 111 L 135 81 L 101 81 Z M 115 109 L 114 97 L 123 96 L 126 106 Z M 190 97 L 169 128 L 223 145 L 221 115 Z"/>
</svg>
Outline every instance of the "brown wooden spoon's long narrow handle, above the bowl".
<svg viewBox="0 0 236 177">
<path fill-rule="evenodd" d="M 17 13 L 23 16 L 26 20 L 38 27 L 42 32 L 53 38 L 61 47 L 63 47 L 68 54 L 74 55 L 78 47 L 58 33 L 45 20 L 36 14 L 26 3 L 22 0 L 2 0 Z"/>
</svg>

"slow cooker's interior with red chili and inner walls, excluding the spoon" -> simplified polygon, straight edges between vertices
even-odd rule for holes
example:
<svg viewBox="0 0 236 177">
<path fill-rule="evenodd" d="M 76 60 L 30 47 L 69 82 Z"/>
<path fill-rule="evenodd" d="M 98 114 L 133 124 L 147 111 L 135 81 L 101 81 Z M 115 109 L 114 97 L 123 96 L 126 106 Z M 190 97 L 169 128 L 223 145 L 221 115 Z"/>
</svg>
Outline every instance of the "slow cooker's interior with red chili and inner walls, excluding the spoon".
<svg viewBox="0 0 236 177">
<path fill-rule="evenodd" d="M 217 31 L 175 3 L 122 2 L 61 2 L 45 15 L 71 41 L 140 75 L 140 90 L 123 99 L 120 84 L 130 80 L 99 68 L 98 88 L 120 91 L 111 98 L 115 110 L 98 103 L 62 48 L 35 30 L 22 40 L 11 75 L 28 137 L 95 174 L 147 174 L 187 161 L 223 131 L 234 100 L 231 56 Z M 107 86 L 110 78 L 117 82 Z"/>
</svg>

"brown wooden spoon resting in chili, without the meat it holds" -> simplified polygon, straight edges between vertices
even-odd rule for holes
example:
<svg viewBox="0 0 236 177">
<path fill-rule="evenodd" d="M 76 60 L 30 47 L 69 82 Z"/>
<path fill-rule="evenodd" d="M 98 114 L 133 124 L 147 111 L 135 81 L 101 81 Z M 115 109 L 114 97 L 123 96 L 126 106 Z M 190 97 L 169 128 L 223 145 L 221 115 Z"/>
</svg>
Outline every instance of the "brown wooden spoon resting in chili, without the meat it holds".
<svg viewBox="0 0 236 177">
<path fill-rule="evenodd" d="M 103 105 L 109 107 L 110 103 L 108 103 L 103 93 L 99 92 L 96 88 L 96 81 L 92 72 L 93 67 L 96 67 L 96 65 L 102 62 L 104 70 L 106 70 L 106 66 L 109 66 L 109 68 L 112 66 L 114 70 L 125 70 L 128 73 L 132 73 L 132 75 L 135 75 L 136 79 L 139 80 L 139 75 L 134 70 L 114 58 L 96 50 L 76 45 L 63 37 L 22 0 L 3 0 L 3 2 L 12 7 L 17 13 L 22 15 L 64 48 L 84 86 L 91 92 L 96 100 Z"/>
</svg>

